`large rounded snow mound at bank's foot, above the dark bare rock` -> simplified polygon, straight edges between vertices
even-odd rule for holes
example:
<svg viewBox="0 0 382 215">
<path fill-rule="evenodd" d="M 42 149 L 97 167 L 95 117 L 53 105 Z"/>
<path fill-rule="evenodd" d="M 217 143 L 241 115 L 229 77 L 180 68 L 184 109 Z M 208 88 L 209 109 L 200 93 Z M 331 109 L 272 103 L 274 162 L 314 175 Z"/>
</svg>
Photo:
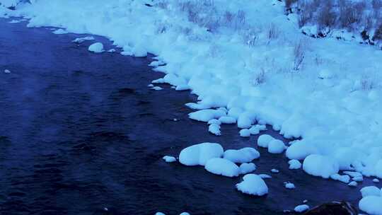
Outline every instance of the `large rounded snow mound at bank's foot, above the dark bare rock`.
<svg viewBox="0 0 382 215">
<path fill-rule="evenodd" d="M 309 175 L 329 178 L 330 175 L 338 173 L 339 167 L 334 159 L 313 154 L 303 160 L 303 170 Z"/>
</svg>

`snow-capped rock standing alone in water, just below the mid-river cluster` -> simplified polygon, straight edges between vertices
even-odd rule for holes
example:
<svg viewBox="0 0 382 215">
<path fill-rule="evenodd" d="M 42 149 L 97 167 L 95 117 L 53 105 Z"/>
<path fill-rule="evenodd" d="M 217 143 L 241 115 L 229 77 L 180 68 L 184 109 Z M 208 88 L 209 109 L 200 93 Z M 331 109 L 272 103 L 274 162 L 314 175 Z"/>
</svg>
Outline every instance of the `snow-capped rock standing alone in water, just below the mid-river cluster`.
<svg viewBox="0 0 382 215">
<path fill-rule="evenodd" d="M 243 182 L 236 184 L 236 188 L 245 193 L 255 196 L 262 196 L 268 193 L 268 187 L 259 175 L 247 174 L 243 177 Z"/>
</svg>

